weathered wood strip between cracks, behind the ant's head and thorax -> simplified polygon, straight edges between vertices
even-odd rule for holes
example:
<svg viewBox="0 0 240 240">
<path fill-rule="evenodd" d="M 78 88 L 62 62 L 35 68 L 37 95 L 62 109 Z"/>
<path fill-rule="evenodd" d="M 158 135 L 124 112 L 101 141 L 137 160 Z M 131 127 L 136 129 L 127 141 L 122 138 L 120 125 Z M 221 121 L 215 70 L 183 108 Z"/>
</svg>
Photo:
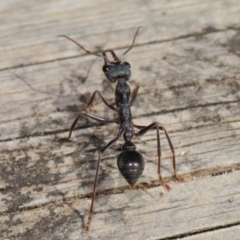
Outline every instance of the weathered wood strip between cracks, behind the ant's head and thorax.
<svg viewBox="0 0 240 240">
<path fill-rule="evenodd" d="M 240 59 L 229 53 L 229 42 L 236 34 L 236 31 L 231 30 L 204 35 L 200 40 L 191 37 L 181 39 L 174 41 L 174 45 L 168 42 L 135 48 L 127 57 L 133 68 L 130 84 L 141 87 L 133 107 L 134 117 L 149 114 L 156 115 L 155 120 L 163 124 L 178 123 L 175 129 L 171 126 L 172 131 L 193 127 L 192 122 L 185 122 L 184 126 L 181 124 L 178 118 L 181 109 L 191 110 L 190 114 L 193 114 L 192 118 L 196 122 L 204 122 L 208 118 L 210 121 L 212 118 L 219 121 L 220 118 L 227 117 L 228 110 L 225 107 L 219 114 L 201 111 L 196 115 L 194 111 L 198 112 L 204 106 L 218 104 L 221 107 L 238 102 Z M 103 77 L 102 62 L 95 63 L 90 58 L 92 59 L 82 57 L 3 72 L 0 95 L 1 140 L 47 134 L 49 131 L 61 130 L 63 126 L 64 129 L 69 128 L 74 116 L 84 109 L 96 89 L 114 101 L 114 86 Z M 104 110 L 105 106 L 99 101 L 98 103 L 96 101 L 93 112 L 102 116 L 104 112 L 105 117 L 111 117 L 109 111 Z M 148 111 L 143 112 L 143 109 Z M 75 115 L 73 111 L 76 112 Z M 174 112 L 175 119 L 162 120 L 160 114 L 165 112 Z M 67 123 L 66 119 L 69 120 Z M 149 121 L 151 120 L 147 123 Z"/>
</svg>

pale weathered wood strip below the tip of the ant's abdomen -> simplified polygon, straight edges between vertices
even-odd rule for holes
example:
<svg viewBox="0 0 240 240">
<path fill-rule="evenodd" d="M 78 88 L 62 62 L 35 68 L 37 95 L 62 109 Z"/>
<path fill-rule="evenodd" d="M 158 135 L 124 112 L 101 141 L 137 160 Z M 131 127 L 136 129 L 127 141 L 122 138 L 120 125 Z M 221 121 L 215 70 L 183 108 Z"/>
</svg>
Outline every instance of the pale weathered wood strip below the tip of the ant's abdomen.
<svg viewBox="0 0 240 240">
<path fill-rule="evenodd" d="M 89 207 L 87 199 L 59 201 L 17 212 L 14 216 L 1 216 L 0 234 L 1 237 L 22 236 L 24 239 L 34 236 L 35 239 L 159 240 L 210 232 L 239 223 L 239 181 L 239 172 L 235 171 L 174 183 L 170 192 L 156 187 L 99 196 L 88 236 L 83 235 Z"/>
</svg>

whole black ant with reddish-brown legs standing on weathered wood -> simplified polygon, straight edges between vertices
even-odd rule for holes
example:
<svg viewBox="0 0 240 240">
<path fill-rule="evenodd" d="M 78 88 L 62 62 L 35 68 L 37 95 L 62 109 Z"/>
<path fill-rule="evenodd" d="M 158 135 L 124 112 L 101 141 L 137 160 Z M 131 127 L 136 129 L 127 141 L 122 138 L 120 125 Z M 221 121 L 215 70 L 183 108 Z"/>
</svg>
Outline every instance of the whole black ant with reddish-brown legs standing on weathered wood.
<svg viewBox="0 0 240 240">
<path fill-rule="evenodd" d="M 122 54 L 122 57 L 128 53 L 134 46 L 136 36 L 139 32 L 139 29 L 141 27 L 138 27 L 132 44 L 131 46 Z M 117 165 L 120 173 L 123 175 L 123 177 L 127 180 L 129 183 L 130 187 L 132 187 L 138 180 L 138 178 L 142 175 L 142 172 L 144 170 L 144 159 L 142 155 L 136 151 L 135 145 L 132 143 L 132 138 L 134 136 L 142 136 L 145 133 L 147 133 L 151 129 L 155 129 L 157 133 L 157 156 L 158 156 L 158 176 L 159 176 L 159 181 L 160 183 L 167 189 L 170 190 L 170 186 L 166 184 L 162 178 L 161 175 L 161 146 L 160 146 L 160 133 L 159 131 L 162 130 L 167 138 L 169 147 L 172 152 L 172 164 L 173 164 L 173 171 L 174 171 L 174 177 L 176 179 L 179 179 L 177 176 L 177 170 L 176 170 L 176 160 L 175 160 L 175 152 L 174 148 L 172 145 L 172 142 L 170 140 L 170 137 L 166 131 L 166 129 L 162 126 L 159 125 L 159 123 L 154 122 L 148 126 L 140 126 L 137 124 L 134 124 L 132 121 L 132 114 L 131 114 L 131 107 L 134 104 L 139 86 L 137 86 L 132 94 L 131 94 L 131 89 L 130 86 L 128 85 L 127 81 L 131 77 L 131 66 L 128 62 L 122 62 L 121 58 L 119 58 L 113 50 L 105 50 L 102 52 L 102 55 L 93 53 L 89 50 L 86 50 L 83 46 L 81 46 L 79 43 L 77 43 L 75 40 L 72 38 L 65 36 L 65 35 L 60 35 L 61 37 L 67 38 L 70 41 L 74 42 L 77 44 L 81 49 L 83 49 L 87 54 L 92 54 L 97 57 L 101 57 L 104 59 L 104 65 L 102 67 L 102 70 L 106 76 L 106 78 L 111 82 L 115 83 L 117 82 L 117 86 L 115 89 L 115 104 L 110 104 L 101 94 L 100 91 L 96 90 L 92 97 L 90 98 L 86 111 L 81 112 L 77 118 L 74 120 L 74 122 L 71 125 L 71 128 L 69 130 L 69 135 L 68 137 L 60 138 L 58 136 L 55 136 L 56 139 L 59 140 L 69 140 L 72 134 L 72 131 L 74 130 L 74 127 L 81 117 L 87 117 L 94 119 L 98 122 L 101 123 L 116 123 L 119 125 L 118 133 L 114 139 L 112 139 L 109 143 L 107 143 L 102 149 L 99 150 L 98 152 L 98 161 L 97 161 L 97 170 L 96 170 L 96 175 L 95 175 L 95 180 L 94 180 L 94 185 L 93 185 L 93 192 L 92 192 L 92 201 L 91 201 L 91 206 L 89 210 L 89 216 L 88 216 L 88 221 L 85 226 L 85 232 L 89 231 L 90 223 L 92 220 L 92 215 L 93 215 L 93 205 L 96 197 L 96 192 L 97 192 L 97 179 L 98 179 L 98 171 L 99 171 L 99 166 L 100 166 L 100 161 L 102 158 L 103 153 L 111 147 L 120 137 L 123 135 L 125 143 L 122 146 L 122 152 L 118 156 L 117 159 Z M 106 53 L 110 53 L 113 61 L 110 61 Z M 96 96 L 96 94 L 102 99 L 104 104 L 110 108 L 111 110 L 117 112 L 118 117 L 114 119 L 104 119 L 100 117 L 96 117 L 94 115 L 88 114 L 87 112 L 91 107 L 93 107 L 93 100 Z M 130 96 L 132 95 L 131 99 Z M 134 131 L 134 128 L 139 129 L 138 132 Z"/>
</svg>

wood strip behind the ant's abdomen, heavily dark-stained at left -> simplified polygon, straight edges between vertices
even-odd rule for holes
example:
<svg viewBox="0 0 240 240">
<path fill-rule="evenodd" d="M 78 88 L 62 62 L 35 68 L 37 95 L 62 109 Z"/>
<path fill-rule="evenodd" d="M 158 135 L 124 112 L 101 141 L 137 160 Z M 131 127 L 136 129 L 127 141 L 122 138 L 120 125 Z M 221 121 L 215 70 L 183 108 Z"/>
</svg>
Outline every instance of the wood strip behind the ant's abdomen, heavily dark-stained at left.
<svg viewBox="0 0 240 240">
<path fill-rule="evenodd" d="M 187 176 L 204 176 L 239 169 L 239 128 L 228 133 L 227 125 L 205 130 L 192 130 L 189 142 L 182 140 L 186 133 L 173 134 L 177 145 L 178 171 Z M 81 134 L 82 133 L 82 134 Z M 86 135 L 80 131 L 80 135 Z M 52 137 L 36 137 L 11 141 L 11 148 L 1 156 L 2 194 L 0 211 L 15 211 L 25 207 L 36 207 L 69 197 L 84 197 L 91 193 L 96 169 L 98 140 L 78 138 L 78 142 L 52 142 Z M 107 141 L 111 137 L 108 136 Z M 85 142 L 89 141 L 89 142 Z M 170 151 L 162 141 L 164 177 L 172 174 Z M 146 167 L 139 182 L 157 179 L 155 134 L 149 134 L 144 144 L 137 144 L 145 156 Z M 94 154 L 95 153 L 95 154 Z M 116 166 L 118 152 L 109 150 L 103 157 L 99 177 L 99 191 L 126 186 Z M 198 172 L 198 174 L 197 174 Z"/>
</svg>

